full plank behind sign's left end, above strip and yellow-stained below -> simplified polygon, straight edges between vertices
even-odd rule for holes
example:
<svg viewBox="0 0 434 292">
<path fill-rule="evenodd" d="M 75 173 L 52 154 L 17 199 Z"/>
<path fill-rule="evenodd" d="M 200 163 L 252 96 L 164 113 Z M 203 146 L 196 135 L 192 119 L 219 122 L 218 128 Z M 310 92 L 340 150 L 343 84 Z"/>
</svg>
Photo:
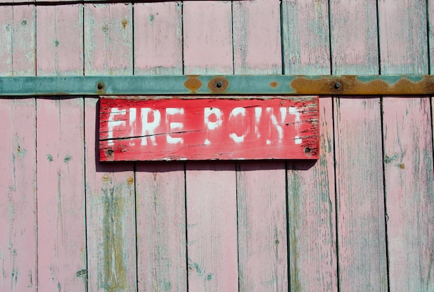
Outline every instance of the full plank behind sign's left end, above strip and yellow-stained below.
<svg viewBox="0 0 434 292">
<path fill-rule="evenodd" d="M 132 74 L 132 6 L 85 4 L 85 75 Z M 132 163 L 98 162 L 97 100 L 85 99 L 89 291 L 137 289 Z"/>
</svg>

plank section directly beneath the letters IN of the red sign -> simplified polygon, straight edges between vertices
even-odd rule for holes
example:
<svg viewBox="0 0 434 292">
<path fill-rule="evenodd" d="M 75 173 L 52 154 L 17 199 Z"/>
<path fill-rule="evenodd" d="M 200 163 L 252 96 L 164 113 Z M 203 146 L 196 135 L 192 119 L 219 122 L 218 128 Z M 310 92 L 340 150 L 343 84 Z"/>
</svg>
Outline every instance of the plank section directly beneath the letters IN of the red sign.
<svg viewBox="0 0 434 292">
<path fill-rule="evenodd" d="M 240 291 L 288 291 L 285 164 L 237 163 Z"/>
</svg>

